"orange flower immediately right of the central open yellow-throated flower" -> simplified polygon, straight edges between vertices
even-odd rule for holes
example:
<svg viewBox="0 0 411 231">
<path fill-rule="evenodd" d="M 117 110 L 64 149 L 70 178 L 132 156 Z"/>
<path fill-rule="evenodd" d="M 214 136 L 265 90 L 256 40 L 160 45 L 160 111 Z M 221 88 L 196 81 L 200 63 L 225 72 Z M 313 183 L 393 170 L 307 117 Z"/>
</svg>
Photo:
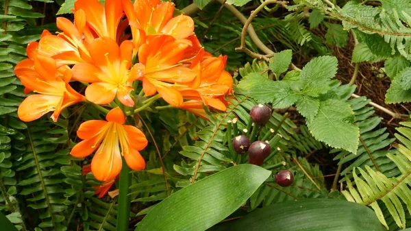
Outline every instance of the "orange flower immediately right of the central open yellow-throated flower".
<svg viewBox="0 0 411 231">
<path fill-rule="evenodd" d="M 172 106 L 180 106 L 183 97 L 178 88 L 186 88 L 186 84 L 195 79 L 197 73 L 183 66 L 184 52 L 190 47 L 188 40 L 176 40 L 172 36 L 149 36 L 147 44 L 138 51 L 139 64 L 132 72 L 142 80 L 145 95 L 156 92 Z"/>
</svg>

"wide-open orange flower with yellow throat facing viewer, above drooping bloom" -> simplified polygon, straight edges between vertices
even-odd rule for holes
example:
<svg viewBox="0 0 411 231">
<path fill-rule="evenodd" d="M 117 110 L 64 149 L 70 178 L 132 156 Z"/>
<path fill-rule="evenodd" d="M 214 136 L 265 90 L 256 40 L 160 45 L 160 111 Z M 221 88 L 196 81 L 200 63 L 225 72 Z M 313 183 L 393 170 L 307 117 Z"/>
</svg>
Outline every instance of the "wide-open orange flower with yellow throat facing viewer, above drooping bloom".
<svg viewBox="0 0 411 231">
<path fill-rule="evenodd" d="M 80 62 L 73 66 L 73 79 L 90 82 L 86 98 L 95 104 L 110 104 L 115 97 L 125 106 L 134 106 L 129 93 L 136 76 L 129 75 L 132 65 L 133 43 L 126 40 L 117 43 L 108 37 L 96 38 L 88 51 L 92 64 Z"/>
</svg>

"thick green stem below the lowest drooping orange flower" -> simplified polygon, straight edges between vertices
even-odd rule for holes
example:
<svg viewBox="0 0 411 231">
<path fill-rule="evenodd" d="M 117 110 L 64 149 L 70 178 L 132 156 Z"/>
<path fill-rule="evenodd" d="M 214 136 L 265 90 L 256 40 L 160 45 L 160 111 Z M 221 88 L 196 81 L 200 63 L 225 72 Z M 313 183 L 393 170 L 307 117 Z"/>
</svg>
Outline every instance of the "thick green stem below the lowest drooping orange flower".
<svg viewBox="0 0 411 231">
<path fill-rule="evenodd" d="M 117 214 L 117 231 L 129 230 L 130 204 L 131 197 L 129 196 L 129 186 L 132 178 L 129 173 L 130 169 L 123 158 L 123 168 L 120 172 L 119 185 L 119 213 Z"/>
</svg>

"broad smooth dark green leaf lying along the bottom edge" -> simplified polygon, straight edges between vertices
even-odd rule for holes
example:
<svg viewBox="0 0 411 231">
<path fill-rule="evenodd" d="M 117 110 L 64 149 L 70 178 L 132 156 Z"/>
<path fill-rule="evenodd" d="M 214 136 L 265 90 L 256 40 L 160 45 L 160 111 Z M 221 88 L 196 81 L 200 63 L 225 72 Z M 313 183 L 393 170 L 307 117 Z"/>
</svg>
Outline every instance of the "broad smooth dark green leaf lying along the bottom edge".
<svg viewBox="0 0 411 231">
<path fill-rule="evenodd" d="M 209 231 L 383 231 L 375 213 L 338 199 L 303 199 L 266 206 Z"/>
</svg>

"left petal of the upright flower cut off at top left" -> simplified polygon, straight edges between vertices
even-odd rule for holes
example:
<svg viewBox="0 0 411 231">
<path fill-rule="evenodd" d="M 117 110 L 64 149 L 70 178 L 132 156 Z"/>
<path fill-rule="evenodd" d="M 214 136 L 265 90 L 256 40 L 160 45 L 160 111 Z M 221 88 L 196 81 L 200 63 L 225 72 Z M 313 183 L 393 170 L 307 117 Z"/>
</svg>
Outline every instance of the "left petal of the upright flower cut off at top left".
<svg viewBox="0 0 411 231">
<path fill-rule="evenodd" d="M 75 12 L 84 10 L 86 21 L 90 27 L 99 35 L 109 36 L 105 23 L 105 11 L 103 5 L 97 0 L 77 0 L 74 3 Z M 114 37 L 115 38 L 115 37 Z"/>
</svg>

